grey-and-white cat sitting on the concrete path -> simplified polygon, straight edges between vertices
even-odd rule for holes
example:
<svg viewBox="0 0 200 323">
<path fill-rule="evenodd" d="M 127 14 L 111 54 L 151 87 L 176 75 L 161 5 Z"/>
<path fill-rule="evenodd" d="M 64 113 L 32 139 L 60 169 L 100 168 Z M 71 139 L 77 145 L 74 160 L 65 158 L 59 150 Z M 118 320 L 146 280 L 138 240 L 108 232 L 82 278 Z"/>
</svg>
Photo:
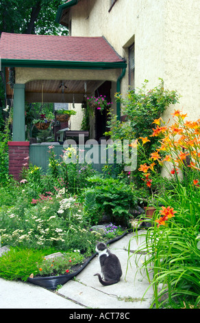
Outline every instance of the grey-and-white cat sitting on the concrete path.
<svg viewBox="0 0 200 323">
<path fill-rule="evenodd" d="M 99 277 L 99 282 L 103 286 L 116 284 L 122 276 L 121 263 L 115 254 L 112 254 L 105 243 L 97 243 L 96 252 L 99 254 L 101 274 L 95 274 Z"/>
</svg>

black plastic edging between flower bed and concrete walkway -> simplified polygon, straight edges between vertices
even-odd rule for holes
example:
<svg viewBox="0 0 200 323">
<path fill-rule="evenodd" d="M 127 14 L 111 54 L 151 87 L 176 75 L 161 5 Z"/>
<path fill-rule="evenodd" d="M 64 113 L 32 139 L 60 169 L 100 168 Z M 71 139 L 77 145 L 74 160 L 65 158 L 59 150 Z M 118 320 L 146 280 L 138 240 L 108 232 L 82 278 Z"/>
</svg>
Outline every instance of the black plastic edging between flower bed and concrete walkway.
<svg viewBox="0 0 200 323">
<path fill-rule="evenodd" d="M 116 238 L 112 239 L 111 241 L 107 242 L 107 245 L 110 245 L 111 243 L 114 243 L 115 241 L 120 240 L 125 236 L 127 233 L 129 233 L 131 230 L 127 230 L 124 234 L 121 236 L 117 236 Z M 47 289 L 56 289 L 58 285 L 64 285 L 68 280 L 71 280 L 77 274 L 79 274 L 87 265 L 90 263 L 90 260 L 92 260 L 95 256 L 97 256 L 97 252 L 95 254 L 92 254 L 90 258 L 84 263 L 84 265 L 79 268 L 77 271 L 73 272 L 72 274 L 66 274 L 66 275 L 60 275 L 60 276 L 49 276 L 49 277 L 36 277 L 36 278 L 28 278 L 27 282 L 32 282 L 34 285 L 38 285 L 40 287 L 45 287 Z"/>
</svg>

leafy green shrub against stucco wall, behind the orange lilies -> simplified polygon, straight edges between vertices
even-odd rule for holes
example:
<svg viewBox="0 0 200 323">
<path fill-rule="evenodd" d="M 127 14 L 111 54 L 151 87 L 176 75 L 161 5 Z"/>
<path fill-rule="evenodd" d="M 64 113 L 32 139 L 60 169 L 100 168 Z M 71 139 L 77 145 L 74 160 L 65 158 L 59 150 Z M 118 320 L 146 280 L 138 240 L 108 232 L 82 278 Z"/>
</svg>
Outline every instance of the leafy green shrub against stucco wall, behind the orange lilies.
<svg viewBox="0 0 200 323">
<path fill-rule="evenodd" d="M 116 93 L 116 102 L 121 102 L 122 115 L 125 121 L 117 120 L 116 115 L 110 113 L 108 128 L 110 131 L 105 135 L 110 135 L 112 140 L 138 140 L 140 137 L 147 139 L 153 130 L 153 121 L 160 118 L 162 113 L 171 104 L 178 102 L 176 91 L 164 89 L 164 82 L 160 78 L 160 84 L 154 89 L 147 89 L 148 80 L 137 91 L 128 91 L 123 98 L 121 93 Z M 147 155 L 155 150 L 158 145 L 158 137 L 153 137 L 151 142 L 148 140 L 145 145 Z M 138 164 L 142 164 L 143 157 L 138 151 Z M 136 171 L 132 175 L 137 183 L 140 183 L 140 175 Z"/>
</svg>

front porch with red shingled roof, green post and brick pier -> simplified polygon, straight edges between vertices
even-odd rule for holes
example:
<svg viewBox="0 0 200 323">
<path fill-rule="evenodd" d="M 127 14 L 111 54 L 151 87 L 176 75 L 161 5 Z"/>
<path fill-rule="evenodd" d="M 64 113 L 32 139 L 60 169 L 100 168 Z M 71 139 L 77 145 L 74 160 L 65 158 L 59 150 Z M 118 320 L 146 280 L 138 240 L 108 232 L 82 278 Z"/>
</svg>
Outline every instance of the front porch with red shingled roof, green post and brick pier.
<svg viewBox="0 0 200 323">
<path fill-rule="evenodd" d="M 5 76 L 6 98 L 13 104 L 12 142 L 9 143 L 10 174 L 18 179 L 24 158 L 47 169 L 47 145 L 32 144 L 25 135 L 25 102 L 82 104 L 88 96 L 121 91 L 127 64 L 104 37 L 39 36 L 1 34 L 1 68 Z M 64 91 L 62 91 L 64 85 Z M 120 104 L 116 104 L 118 120 Z M 92 120 L 96 140 L 103 134 L 106 115 L 95 112 Z M 68 125 L 56 129 L 68 131 Z M 98 130 L 100 129 L 100 131 Z M 80 129 L 75 129 L 79 131 Z M 65 131 L 65 135 L 66 135 Z M 54 131 L 55 134 L 55 131 Z M 56 140 L 56 138 L 55 138 Z M 57 141 L 57 140 L 56 140 Z M 55 144 L 57 155 L 63 146 Z M 101 158 L 101 157 L 100 157 Z M 98 167 L 101 164 L 99 164 Z"/>
</svg>

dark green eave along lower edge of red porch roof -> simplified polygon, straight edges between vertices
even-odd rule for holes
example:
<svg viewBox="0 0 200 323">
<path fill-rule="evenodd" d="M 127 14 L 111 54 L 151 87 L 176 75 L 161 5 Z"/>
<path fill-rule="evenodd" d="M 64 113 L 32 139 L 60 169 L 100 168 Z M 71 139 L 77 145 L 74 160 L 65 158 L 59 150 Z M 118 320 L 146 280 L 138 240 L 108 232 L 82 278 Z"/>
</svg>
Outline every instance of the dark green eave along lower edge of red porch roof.
<svg viewBox="0 0 200 323">
<path fill-rule="evenodd" d="M 21 60 L 1 58 L 2 67 L 40 67 L 61 69 L 124 69 L 125 61 L 121 62 L 82 62 L 64 60 Z"/>
</svg>

